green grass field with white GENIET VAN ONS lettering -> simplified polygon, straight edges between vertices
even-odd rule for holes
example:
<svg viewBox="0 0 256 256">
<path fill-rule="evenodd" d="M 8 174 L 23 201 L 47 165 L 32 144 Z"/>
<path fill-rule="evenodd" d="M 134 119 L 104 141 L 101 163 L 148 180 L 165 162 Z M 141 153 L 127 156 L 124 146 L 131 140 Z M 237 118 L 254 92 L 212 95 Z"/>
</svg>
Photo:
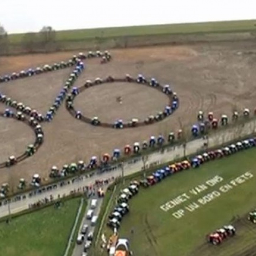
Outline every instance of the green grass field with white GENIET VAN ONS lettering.
<svg viewBox="0 0 256 256">
<path fill-rule="evenodd" d="M 153 255 L 164 256 L 191 255 L 190 252 L 206 242 L 206 234 L 229 224 L 235 216 L 245 215 L 251 208 L 256 207 L 253 196 L 256 192 L 255 154 L 256 149 L 250 149 L 222 160 L 206 163 L 199 169 L 190 169 L 167 177 L 148 189 L 141 188 L 139 195 L 129 203 L 130 214 L 122 220 L 121 236 L 130 239 L 135 255 L 151 255 L 150 252 Z M 253 177 L 250 178 L 248 175 L 234 181 L 246 172 L 250 172 Z M 217 175 L 223 180 L 220 179 L 215 185 L 206 183 Z M 223 186 L 226 184 L 229 185 L 226 187 L 229 191 L 224 192 Z M 203 185 L 202 191 L 196 194 L 196 189 L 195 191 L 192 189 L 199 185 Z M 209 193 L 214 193 L 215 197 L 205 203 L 202 198 Z M 181 194 L 185 202 L 169 207 L 168 211 L 160 208 Z M 192 210 L 192 204 L 197 209 Z M 184 211 L 181 218 L 176 218 L 178 210 Z M 130 232 L 132 228 L 133 235 Z M 241 237 L 236 239 L 232 246 L 223 244 L 216 251 L 208 249 L 208 246 L 201 254 L 196 252 L 193 255 L 233 255 L 232 253 L 238 248 L 241 249 L 244 244 L 251 244 L 252 239 L 256 239 L 256 235 L 251 233 L 248 238 L 246 230 L 245 227 L 240 228 Z M 109 234 L 109 231 L 106 232 Z"/>
</svg>

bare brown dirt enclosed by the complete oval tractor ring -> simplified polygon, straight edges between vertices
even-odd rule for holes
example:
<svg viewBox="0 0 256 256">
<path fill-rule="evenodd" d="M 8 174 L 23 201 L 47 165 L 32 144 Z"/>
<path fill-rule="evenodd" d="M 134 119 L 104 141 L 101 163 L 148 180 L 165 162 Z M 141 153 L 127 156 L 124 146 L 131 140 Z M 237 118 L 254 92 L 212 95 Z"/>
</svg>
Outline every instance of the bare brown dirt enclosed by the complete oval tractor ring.
<svg viewBox="0 0 256 256">
<path fill-rule="evenodd" d="M 116 102 L 119 95 L 125 95 L 122 104 Z M 132 118 L 142 121 L 151 114 L 163 111 L 168 104 L 169 98 L 160 91 L 128 82 L 89 87 L 74 101 L 75 109 L 81 111 L 84 116 L 98 116 L 102 122 L 107 123 L 114 123 L 116 119 L 128 122 Z"/>
</svg>

